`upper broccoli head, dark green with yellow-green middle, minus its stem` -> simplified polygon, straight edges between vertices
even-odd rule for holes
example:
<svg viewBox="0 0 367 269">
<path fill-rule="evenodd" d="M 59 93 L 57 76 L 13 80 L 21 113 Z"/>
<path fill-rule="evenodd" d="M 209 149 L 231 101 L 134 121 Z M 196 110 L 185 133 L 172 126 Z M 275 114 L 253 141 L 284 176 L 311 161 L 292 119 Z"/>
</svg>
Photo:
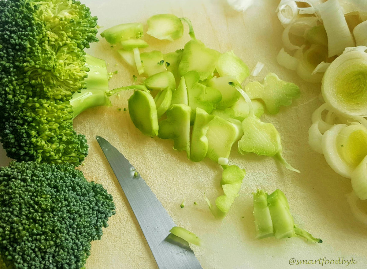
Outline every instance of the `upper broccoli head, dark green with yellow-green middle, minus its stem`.
<svg viewBox="0 0 367 269">
<path fill-rule="evenodd" d="M 17 161 L 79 165 L 85 136 L 73 130 L 73 93 L 97 17 L 75 0 L 0 0 L 0 142 Z"/>
</svg>

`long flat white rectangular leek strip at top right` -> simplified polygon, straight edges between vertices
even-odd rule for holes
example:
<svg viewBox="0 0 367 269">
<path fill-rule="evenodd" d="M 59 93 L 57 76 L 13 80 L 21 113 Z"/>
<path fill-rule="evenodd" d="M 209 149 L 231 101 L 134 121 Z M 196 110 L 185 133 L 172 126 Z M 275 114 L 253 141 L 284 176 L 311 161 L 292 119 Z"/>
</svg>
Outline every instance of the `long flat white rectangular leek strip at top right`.
<svg viewBox="0 0 367 269">
<path fill-rule="evenodd" d="M 346 47 L 354 47 L 354 39 L 338 0 L 328 0 L 317 6 L 327 33 L 328 57 L 340 55 Z"/>
</svg>

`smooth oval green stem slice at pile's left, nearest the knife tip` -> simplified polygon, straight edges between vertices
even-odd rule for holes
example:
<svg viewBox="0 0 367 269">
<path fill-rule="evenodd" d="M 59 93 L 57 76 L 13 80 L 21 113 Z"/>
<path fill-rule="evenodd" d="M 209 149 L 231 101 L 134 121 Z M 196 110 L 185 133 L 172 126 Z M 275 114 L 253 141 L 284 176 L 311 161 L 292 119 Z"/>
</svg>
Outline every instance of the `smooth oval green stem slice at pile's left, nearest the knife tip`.
<svg viewBox="0 0 367 269">
<path fill-rule="evenodd" d="M 150 137 L 158 134 L 157 108 L 150 93 L 135 91 L 128 100 L 128 109 L 132 122 L 143 134 Z"/>
</svg>

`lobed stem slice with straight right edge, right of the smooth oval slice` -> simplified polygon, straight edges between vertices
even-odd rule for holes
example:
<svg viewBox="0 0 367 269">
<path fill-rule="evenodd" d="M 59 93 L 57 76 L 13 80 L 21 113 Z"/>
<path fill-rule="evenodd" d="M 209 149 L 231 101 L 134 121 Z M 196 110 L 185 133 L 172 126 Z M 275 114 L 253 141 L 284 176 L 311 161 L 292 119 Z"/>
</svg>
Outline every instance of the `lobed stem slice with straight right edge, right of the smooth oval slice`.
<svg viewBox="0 0 367 269">
<path fill-rule="evenodd" d="M 167 110 L 167 119 L 159 122 L 158 137 L 173 139 L 173 148 L 186 151 L 190 158 L 190 113 L 191 108 L 185 104 L 174 104 Z"/>
</svg>

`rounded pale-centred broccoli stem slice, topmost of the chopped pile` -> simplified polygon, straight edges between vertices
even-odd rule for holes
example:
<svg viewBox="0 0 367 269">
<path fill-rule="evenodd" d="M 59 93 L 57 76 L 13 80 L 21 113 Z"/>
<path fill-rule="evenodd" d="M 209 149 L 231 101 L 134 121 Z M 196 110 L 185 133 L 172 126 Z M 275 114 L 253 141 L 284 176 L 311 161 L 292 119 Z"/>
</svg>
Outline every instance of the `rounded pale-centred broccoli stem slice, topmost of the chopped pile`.
<svg viewBox="0 0 367 269">
<path fill-rule="evenodd" d="M 160 40 L 173 41 L 183 35 L 181 20 L 172 14 L 153 15 L 148 19 L 147 24 L 146 33 Z"/>
</svg>

